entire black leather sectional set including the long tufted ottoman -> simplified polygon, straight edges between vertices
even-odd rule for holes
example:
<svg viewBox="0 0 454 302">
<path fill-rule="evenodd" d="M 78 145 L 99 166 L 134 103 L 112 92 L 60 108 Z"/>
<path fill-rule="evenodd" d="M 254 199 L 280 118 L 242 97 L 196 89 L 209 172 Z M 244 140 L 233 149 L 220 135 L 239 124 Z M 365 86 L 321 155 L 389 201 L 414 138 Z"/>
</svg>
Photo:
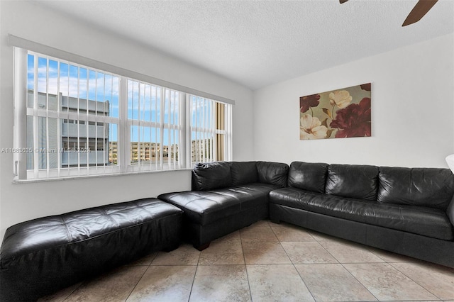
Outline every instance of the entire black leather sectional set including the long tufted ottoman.
<svg viewBox="0 0 454 302">
<path fill-rule="evenodd" d="M 264 218 L 454 268 L 450 169 L 212 162 L 196 165 L 191 191 L 11 226 L 0 300 L 32 301 L 180 240 L 203 250 Z"/>
</svg>

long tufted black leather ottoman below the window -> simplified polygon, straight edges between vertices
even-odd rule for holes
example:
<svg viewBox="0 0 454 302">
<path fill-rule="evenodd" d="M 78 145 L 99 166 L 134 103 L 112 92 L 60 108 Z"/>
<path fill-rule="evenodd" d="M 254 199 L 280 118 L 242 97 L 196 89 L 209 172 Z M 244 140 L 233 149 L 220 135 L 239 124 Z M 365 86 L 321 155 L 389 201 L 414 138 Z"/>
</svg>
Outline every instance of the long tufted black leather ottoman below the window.
<svg viewBox="0 0 454 302">
<path fill-rule="evenodd" d="M 33 301 L 150 252 L 174 250 L 182 211 L 144 198 L 49 216 L 6 230 L 0 301 Z"/>
</svg>

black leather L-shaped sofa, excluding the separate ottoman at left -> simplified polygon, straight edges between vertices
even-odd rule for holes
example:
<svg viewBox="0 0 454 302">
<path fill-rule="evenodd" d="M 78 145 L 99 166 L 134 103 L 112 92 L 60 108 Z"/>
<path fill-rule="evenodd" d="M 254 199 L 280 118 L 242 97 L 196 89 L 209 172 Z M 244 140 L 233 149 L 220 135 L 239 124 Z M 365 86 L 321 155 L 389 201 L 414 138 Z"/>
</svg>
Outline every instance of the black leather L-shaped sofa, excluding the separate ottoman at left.
<svg viewBox="0 0 454 302">
<path fill-rule="evenodd" d="M 199 249 L 269 216 L 454 267 L 450 169 L 215 162 L 198 164 L 192 181 L 192 191 L 158 198 L 182 208 L 186 237 Z"/>
</svg>

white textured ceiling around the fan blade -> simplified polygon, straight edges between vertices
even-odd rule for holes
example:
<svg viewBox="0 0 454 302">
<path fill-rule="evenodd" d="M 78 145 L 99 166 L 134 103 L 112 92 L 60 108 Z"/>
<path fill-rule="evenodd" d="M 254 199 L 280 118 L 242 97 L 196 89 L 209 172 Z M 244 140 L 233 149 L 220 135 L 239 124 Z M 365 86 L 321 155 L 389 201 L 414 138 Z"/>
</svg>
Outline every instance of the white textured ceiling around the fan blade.
<svg viewBox="0 0 454 302">
<path fill-rule="evenodd" d="M 453 0 L 404 28 L 417 0 L 35 2 L 250 89 L 454 31 Z"/>
</svg>

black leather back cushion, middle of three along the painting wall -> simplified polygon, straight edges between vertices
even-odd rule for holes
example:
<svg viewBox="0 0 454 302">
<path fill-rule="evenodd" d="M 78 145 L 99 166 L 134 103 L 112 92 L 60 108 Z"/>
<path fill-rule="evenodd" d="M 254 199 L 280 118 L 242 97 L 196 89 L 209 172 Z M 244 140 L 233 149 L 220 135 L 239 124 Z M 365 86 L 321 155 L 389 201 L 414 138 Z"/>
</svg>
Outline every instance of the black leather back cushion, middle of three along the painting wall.
<svg viewBox="0 0 454 302">
<path fill-rule="evenodd" d="M 375 201 L 378 167 L 360 164 L 330 164 L 326 194 Z"/>
</svg>

